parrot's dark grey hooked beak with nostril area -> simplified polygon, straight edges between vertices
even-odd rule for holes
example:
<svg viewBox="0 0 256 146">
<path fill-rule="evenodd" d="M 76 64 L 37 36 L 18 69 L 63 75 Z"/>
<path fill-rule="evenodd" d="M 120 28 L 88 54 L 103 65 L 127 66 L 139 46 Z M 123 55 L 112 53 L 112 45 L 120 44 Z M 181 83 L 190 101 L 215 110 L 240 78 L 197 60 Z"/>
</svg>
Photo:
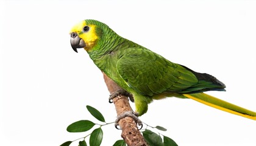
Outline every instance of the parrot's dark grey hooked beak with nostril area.
<svg viewBox="0 0 256 146">
<path fill-rule="evenodd" d="M 85 47 L 85 41 L 82 38 L 79 38 L 76 32 L 72 32 L 71 34 L 71 47 L 75 52 L 77 52 L 77 48 Z"/>
</svg>

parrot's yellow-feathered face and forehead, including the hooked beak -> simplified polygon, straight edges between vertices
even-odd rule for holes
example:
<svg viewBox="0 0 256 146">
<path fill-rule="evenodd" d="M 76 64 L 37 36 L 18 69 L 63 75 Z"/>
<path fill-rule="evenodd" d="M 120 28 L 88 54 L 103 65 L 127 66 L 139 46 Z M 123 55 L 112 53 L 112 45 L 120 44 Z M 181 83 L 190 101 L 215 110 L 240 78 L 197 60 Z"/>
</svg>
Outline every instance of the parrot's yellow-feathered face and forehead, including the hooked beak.
<svg viewBox="0 0 256 146">
<path fill-rule="evenodd" d="M 95 46 L 99 39 L 99 30 L 96 30 L 96 27 L 96 24 L 84 20 L 71 29 L 71 46 L 74 51 L 77 52 L 77 48 L 84 48 L 88 52 Z"/>
</svg>

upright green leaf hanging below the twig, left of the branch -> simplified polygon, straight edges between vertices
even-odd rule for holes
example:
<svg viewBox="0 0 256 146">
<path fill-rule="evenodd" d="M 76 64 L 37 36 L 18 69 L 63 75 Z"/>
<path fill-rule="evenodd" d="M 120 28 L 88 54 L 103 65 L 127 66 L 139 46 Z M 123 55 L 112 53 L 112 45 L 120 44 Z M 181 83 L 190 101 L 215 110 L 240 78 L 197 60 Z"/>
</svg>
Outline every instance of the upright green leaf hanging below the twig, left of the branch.
<svg viewBox="0 0 256 146">
<path fill-rule="evenodd" d="M 101 127 L 93 130 L 90 136 L 90 145 L 93 145 L 93 146 L 101 145 L 102 138 L 103 138 L 103 131 L 101 130 Z"/>
</svg>

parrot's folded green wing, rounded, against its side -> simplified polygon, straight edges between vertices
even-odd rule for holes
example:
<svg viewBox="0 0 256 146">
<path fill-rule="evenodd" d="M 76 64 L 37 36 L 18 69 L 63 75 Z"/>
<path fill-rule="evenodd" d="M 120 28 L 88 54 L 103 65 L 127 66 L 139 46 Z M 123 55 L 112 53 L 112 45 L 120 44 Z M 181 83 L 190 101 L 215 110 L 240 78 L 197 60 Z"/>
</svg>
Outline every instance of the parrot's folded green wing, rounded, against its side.
<svg viewBox="0 0 256 146">
<path fill-rule="evenodd" d="M 171 63 L 150 50 L 121 57 L 116 68 L 130 88 L 152 96 L 162 92 L 179 92 L 198 83 L 196 76 L 179 64 Z"/>
</svg>

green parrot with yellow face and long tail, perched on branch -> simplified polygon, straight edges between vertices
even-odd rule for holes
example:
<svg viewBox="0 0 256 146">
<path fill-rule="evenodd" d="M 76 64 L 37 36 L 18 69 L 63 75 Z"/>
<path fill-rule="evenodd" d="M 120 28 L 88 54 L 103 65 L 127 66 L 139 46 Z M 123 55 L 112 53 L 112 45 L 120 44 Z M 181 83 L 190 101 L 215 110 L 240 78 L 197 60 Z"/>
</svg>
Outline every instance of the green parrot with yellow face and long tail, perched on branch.
<svg viewBox="0 0 256 146">
<path fill-rule="evenodd" d="M 133 95 L 138 116 L 147 112 L 152 100 L 179 97 L 256 120 L 255 112 L 204 93 L 225 91 L 224 83 L 212 75 L 172 63 L 117 35 L 104 23 L 93 19 L 81 21 L 70 35 L 74 51 L 84 48 L 102 72 Z"/>
</svg>

